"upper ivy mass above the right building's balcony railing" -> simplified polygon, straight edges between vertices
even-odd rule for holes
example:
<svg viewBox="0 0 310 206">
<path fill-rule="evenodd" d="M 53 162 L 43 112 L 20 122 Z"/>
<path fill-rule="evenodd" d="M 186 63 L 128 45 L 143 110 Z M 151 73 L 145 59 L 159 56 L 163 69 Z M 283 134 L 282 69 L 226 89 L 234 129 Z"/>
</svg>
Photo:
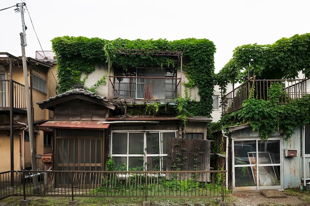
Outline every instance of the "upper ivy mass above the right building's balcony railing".
<svg viewBox="0 0 310 206">
<path fill-rule="evenodd" d="M 290 79 L 302 71 L 310 77 L 310 34 L 282 38 L 273 44 L 246 44 L 233 51 L 233 58 L 217 74 L 219 85 L 257 79 Z"/>
</svg>

